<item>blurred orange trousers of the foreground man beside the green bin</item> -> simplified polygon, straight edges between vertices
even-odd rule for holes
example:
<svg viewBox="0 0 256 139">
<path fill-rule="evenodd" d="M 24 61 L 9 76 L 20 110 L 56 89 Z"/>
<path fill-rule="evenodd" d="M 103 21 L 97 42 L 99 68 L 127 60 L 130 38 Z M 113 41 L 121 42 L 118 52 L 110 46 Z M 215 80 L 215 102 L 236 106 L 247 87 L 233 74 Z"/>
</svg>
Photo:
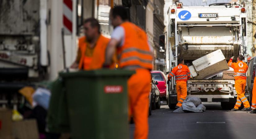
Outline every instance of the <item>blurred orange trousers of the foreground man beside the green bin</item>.
<svg viewBox="0 0 256 139">
<path fill-rule="evenodd" d="M 135 123 L 134 139 L 148 138 L 148 110 L 151 76 L 149 70 L 137 69 L 128 79 L 129 117 Z"/>
</svg>

